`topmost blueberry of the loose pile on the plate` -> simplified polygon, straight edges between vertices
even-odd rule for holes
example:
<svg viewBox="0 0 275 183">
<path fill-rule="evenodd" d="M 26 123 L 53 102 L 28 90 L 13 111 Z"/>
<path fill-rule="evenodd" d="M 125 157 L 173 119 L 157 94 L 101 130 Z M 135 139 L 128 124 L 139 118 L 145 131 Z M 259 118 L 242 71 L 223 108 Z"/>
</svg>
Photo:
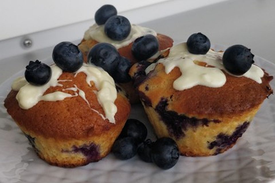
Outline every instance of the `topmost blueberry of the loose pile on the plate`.
<svg viewBox="0 0 275 183">
<path fill-rule="evenodd" d="M 128 119 L 119 135 L 119 138 L 133 137 L 140 144 L 147 136 L 146 126 L 136 119 Z"/>
</svg>

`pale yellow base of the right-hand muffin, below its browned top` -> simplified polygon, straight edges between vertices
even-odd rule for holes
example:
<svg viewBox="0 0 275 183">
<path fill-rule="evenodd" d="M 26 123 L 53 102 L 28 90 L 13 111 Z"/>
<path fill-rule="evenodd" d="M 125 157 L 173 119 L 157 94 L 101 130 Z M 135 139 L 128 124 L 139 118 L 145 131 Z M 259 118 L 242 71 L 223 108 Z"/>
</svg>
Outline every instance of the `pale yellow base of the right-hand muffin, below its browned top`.
<svg viewBox="0 0 275 183">
<path fill-rule="evenodd" d="M 237 139 L 242 136 L 261 105 L 234 116 L 221 116 L 218 119 L 208 119 L 202 116 L 186 116 L 197 119 L 193 125 L 182 125 L 180 136 L 173 134 L 173 130 L 164 122 L 163 114 L 145 105 L 145 112 L 158 138 L 170 137 L 176 141 L 181 155 L 211 156 L 225 152 L 232 148 Z M 203 122 L 204 121 L 204 122 Z"/>
</svg>

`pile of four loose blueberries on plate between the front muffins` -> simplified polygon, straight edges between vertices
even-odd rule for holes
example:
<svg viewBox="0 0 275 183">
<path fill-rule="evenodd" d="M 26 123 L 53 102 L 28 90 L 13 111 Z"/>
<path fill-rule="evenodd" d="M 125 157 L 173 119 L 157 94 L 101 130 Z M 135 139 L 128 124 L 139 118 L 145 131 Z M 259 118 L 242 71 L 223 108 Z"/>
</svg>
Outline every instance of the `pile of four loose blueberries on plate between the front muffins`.
<svg viewBox="0 0 275 183">
<path fill-rule="evenodd" d="M 138 154 L 141 160 L 153 162 L 164 170 L 172 168 L 179 158 L 176 142 L 167 137 L 152 142 L 150 139 L 145 140 L 146 136 L 147 129 L 142 122 L 128 119 L 112 147 L 113 154 L 121 160 Z"/>
</svg>

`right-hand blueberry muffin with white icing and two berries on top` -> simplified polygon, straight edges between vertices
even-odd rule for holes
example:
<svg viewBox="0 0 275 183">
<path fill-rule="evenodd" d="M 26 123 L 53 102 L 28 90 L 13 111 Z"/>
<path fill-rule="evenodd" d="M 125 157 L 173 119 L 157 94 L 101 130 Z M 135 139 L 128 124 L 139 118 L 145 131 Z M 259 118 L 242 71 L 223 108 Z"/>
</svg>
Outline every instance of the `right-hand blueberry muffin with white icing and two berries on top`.
<svg viewBox="0 0 275 183">
<path fill-rule="evenodd" d="M 186 156 L 231 148 L 272 94 L 273 77 L 252 64 L 250 49 L 209 48 L 209 39 L 197 33 L 172 47 L 168 57 L 130 69 L 156 135 L 173 138 Z"/>
</svg>

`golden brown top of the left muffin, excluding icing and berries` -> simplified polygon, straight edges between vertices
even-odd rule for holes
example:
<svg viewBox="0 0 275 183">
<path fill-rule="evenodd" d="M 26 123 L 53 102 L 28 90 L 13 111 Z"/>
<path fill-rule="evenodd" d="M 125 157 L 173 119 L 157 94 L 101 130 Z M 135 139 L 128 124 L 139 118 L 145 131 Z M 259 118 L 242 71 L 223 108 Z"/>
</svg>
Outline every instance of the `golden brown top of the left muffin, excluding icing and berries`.
<svg viewBox="0 0 275 183">
<path fill-rule="evenodd" d="M 62 87 L 50 87 L 44 95 L 74 87 L 74 84 L 76 84 L 78 88 L 85 92 L 86 99 L 91 105 L 90 107 L 104 115 L 103 108 L 93 92 L 94 90 L 97 91 L 97 88 L 93 82 L 91 82 L 91 87 L 87 84 L 85 73 L 78 73 L 74 77 L 74 73 L 64 72 L 59 77 L 59 80 L 64 79 L 72 81 L 62 82 Z M 69 90 L 62 92 L 73 94 Z M 80 96 L 65 98 L 62 101 L 40 101 L 34 107 L 23 110 L 18 105 L 15 98 L 16 94 L 16 91 L 11 90 L 5 99 L 4 106 L 7 108 L 7 112 L 19 126 L 44 137 L 81 139 L 89 136 L 98 136 L 103 131 L 117 128 L 118 125 L 116 124 L 123 123 L 130 113 L 129 101 L 122 92 L 118 93 L 115 100 L 115 105 L 117 106 L 117 113 L 115 114 L 116 124 L 103 120 L 99 114 L 91 110 Z"/>
</svg>

